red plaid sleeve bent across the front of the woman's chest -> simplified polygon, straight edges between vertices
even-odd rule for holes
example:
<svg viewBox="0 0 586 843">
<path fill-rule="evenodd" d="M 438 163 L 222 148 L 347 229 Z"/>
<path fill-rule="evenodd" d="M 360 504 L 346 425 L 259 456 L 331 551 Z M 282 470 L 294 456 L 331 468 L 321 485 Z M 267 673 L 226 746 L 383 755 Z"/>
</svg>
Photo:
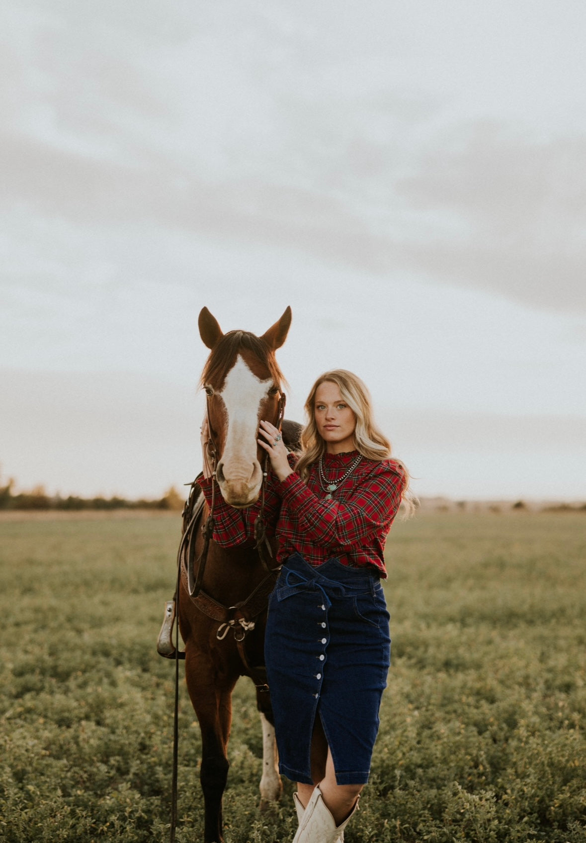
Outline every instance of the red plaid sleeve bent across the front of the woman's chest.
<svg viewBox="0 0 586 843">
<path fill-rule="evenodd" d="M 317 497 L 296 474 L 286 477 L 280 486 L 283 500 L 307 539 L 317 545 L 348 546 L 391 524 L 401 503 L 405 476 L 396 466 L 381 463 L 347 502 Z"/>
</svg>

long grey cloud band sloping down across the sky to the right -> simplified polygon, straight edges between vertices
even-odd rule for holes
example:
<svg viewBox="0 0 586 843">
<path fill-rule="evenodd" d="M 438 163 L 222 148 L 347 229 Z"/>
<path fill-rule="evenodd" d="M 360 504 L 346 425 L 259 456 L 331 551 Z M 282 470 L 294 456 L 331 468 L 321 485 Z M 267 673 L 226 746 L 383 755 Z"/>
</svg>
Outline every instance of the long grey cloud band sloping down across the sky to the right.
<svg viewBox="0 0 586 843">
<path fill-rule="evenodd" d="M 7 212 L 65 217 L 96 227 L 96 238 L 123 223 L 143 226 L 146 239 L 157 228 L 253 239 L 382 277 L 410 271 L 533 307 L 586 310 L 586 137 L 531 142 L 503 126 L 459 126 L 437 147 L 428 142 L 409 177 L 387 171 L 388 151 L 363 138 L 332 155 L 337 191 L 290 183 L 286 170 L 205 180 L 160 153 L 99 160 L 18 135 L 2 148 Z"/>
</svg>

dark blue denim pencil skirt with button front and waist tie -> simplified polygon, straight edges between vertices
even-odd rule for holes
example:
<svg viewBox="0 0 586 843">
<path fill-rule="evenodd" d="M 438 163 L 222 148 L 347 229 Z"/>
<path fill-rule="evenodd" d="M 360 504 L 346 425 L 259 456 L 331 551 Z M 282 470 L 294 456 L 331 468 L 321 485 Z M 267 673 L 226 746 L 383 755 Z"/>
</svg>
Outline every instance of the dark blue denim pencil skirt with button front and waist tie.
<svg viewBox="0 0 586 843">
<path fill-rule="evenodd" d="M 316 717 L 338 785 L 365 784 L 391 662 L 379 577 L 328 559 L 289 556 L 269 599 L 264 643 L 280 772 L 313 784 Z"/>
</svg>

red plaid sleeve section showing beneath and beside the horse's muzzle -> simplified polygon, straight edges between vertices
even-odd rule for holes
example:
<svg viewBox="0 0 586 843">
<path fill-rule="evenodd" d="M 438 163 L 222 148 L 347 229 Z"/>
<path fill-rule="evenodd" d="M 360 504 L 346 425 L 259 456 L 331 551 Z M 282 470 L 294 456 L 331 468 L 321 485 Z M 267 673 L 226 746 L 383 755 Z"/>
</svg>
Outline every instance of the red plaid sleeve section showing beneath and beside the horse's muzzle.
<svg viewBox="0 0 586 843">
<path fill-rule="evenodd" d="M 289 463 L 291 468 L 296 464 L 296 457 L 290 454 Z M 210 477 L 198 479 L 201 491 L 204 493 L 208 507 L 211 507 L 211 485 Z M 274 528 L 280 513 L 280 482 L 269 471 L 266 477 L 264 490 L 264 520 L 267 525 L 267 534 L 274 535 Z M 223 497 L 216 485 L 216 499 L 214 502 L 214 541 L 221 547 L 249 547 L 254 544 L 254 522 L 260 512 L 260 498 L 252 507 L 237 509 L 231 507 Z"/>
</svg>

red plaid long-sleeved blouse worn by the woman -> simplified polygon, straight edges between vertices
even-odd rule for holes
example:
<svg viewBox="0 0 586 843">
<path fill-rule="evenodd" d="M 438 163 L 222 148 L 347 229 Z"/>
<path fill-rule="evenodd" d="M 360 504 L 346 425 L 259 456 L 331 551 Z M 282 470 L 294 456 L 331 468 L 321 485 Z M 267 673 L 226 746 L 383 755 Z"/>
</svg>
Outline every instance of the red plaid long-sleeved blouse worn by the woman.
<svg viewBox="0 0 586 843">
<path fill-rule="evenodd" d="M 325 454 L 323 471 L 335 483 L 358 456 L 356 451 Z M 289 455 L 291 468 L 296 456 Z M 208 504 L 211 480 L 198 481 Z M 279 540 L 277 558 L 282 564 L 292 553 L 300 553 L 310 565 L 322 565 L 332 556 L 349 566 L 375 566 L 386 578 L 384 549 L 386 535 L 401 502 L 405 475 L 393 459 L 381 462 L 362 458 L 348 480 L 324 500 L 317 472 L 312 465 L 307 483 L 294 471 L 283 482 L 269 471 L 266 478 L 264 517 L 267 534 Z M 247 509 L 235 509 L 216 495 L 214 540 L 224 547 L 253 545 L 254 521 L 260 502 Z"/>
</svg>

